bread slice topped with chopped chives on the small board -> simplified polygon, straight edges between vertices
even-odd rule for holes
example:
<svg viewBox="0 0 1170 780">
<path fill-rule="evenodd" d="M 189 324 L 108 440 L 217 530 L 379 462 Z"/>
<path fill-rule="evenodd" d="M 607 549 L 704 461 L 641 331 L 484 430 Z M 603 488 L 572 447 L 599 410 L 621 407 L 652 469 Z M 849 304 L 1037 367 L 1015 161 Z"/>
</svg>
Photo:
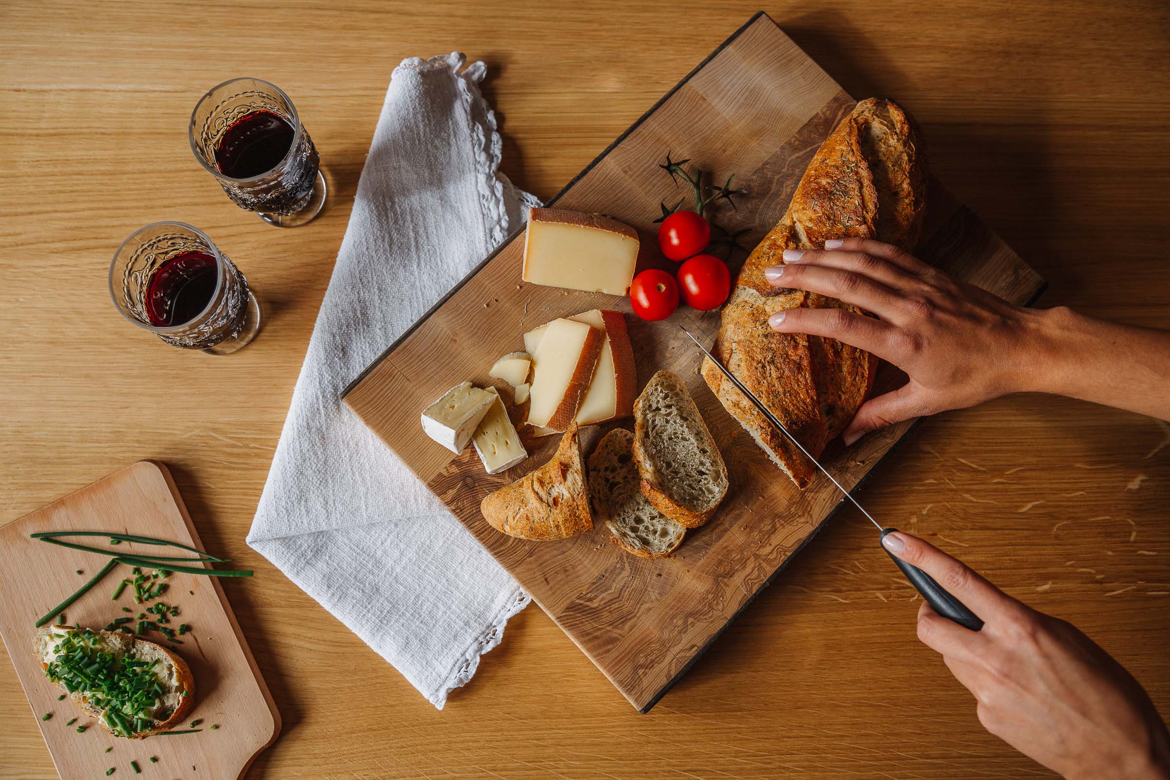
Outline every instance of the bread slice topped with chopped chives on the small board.
<svg viewBox="0 0 1170 780">
<path fill-rule="evenodd" d="M 33 653 L 44 676 L 115 737 L 143 739 L 170 731 L 184 722 L 195 702 L 195 679 L 187 662 L 133 634 L 46 626 L 33 637 Z M 98 676 L 108 683 L 103 689 L 82 682 Z M 154 693 L 142 702 L 108 692 L 137 688 L 144 681 Z"/>
</svg>

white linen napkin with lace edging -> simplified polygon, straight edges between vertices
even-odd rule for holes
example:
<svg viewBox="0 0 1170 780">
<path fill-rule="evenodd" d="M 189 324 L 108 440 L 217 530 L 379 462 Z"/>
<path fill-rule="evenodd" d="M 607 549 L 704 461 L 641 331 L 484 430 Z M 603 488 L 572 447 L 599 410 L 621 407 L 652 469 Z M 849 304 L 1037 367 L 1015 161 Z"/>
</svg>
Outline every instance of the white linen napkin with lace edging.
<svg viewBox="0 0 1170 780">
<path fill-rule="evenodd" d="M 529 596 L 340 401 L 518 227 L 486 67 L 404 60 L 317 315 L 248 545 L 442 709 Z"/>
</svg>

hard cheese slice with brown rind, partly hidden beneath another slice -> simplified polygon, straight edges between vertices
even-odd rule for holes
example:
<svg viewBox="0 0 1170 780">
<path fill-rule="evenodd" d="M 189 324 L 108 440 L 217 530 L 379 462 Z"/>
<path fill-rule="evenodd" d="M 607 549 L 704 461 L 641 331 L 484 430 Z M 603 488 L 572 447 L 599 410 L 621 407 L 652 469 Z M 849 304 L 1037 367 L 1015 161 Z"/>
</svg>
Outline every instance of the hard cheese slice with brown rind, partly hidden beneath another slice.
<svg viewBox="0 0 1170 780">
<path fill-rule="evenodd" d="M 589 426 L 631 416 L 634 413 L 638 372 L 629 334 L 626 332 L 626 318 L 620 311 L 593 309 L 569 319 L 605 331 L 605 344 L 597 359 L 597 370 L 577 409 L 577 423 Z M 546 327 L 548 325 L 541 325 L 524 333 L 524 346 L 530 353 L 541 345 Z"/>
</svg>

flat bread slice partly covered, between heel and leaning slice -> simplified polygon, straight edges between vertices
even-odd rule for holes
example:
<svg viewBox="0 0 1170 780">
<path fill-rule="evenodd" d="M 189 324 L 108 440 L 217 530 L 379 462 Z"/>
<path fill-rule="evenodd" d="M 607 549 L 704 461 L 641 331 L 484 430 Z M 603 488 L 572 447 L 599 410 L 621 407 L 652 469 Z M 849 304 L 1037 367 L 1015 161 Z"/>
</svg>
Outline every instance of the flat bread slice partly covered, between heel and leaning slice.
<svg viewBox="0 0 1170 780">
<path fill-rule="evenodd" d="M 642 495 L 634 435 L 625 428 L 607 433 L 590 455 L 589 490 L 594 516 L 627 552 L 662 558 L 682 544 L 687 529 L 654 509 Z"/>
</svg>

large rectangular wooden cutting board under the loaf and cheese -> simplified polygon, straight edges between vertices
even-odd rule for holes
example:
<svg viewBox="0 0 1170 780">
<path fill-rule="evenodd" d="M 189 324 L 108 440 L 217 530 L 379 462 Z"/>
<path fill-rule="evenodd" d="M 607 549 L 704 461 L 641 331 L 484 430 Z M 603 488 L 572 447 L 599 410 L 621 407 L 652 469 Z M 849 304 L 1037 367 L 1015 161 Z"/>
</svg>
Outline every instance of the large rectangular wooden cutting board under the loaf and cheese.
<svg viewBox="0 0 1170 780">
<path fill-rule="evenodd" d="M 660 199 L 673 203 L 687 194 L 656 167 L 670 151 L 721 182 L 736 175 L 748 195 L 737 212 L 723 209 L 717 221 L 732 230 L 748 228 L 744 244 L 755 246 L 787 208 L 808 160 L 853 104 L 771 19 L 757 14 L 553 202 L 636 227 L 645 249 L 639 270 L 669 268 L 652 249 L 652 220 Z M 917 254 L 1017 303 L 1032 301 L 1042 287 L 1032 269 L 937 182 Z M 624 298 L 521 284 L 522 255 L 523 236 L 514 235 L 358 377 L 345 402 L 645 712 L 817 532 L 841 496 L 823 477 L 798 491 L 724 412 L 697 373 L 701 356 L 675 327 L 684 324 L 711 343 L 718 317 L 683 308 L 662 323 L 644 323 L 632 315 L 627 322 L 640 386 L 659 368 L 677 372 L 723 451 L 731 490 L 715 518 L 691 531 L 667 560 L 622 552 L 608 544 L 604 527 L 552 543 L 523 541 L 493 530 L 480 516 L 480 499 L 544 463 L 556 437 L 525 436 L 534 457 L 508 474 L 487 476 L 472 448 L 453 457 L 422 435 L 419 412 L 456 382 L 493 384 L 493 361 L 523 348 L 524 330 L 598 306 L 629 312 Z M 736 260 L 742 263 L 743 256 Z M 876 392 L 897 381 L 897 372 L 886 366 Z M 497 387 L 511 398 L 510 389 Z M 848 453 L 839 443 L 832 446 L 826 464 L 852 488 L 910 426 L 867 436 Z M 876 534 L 874 555 L 883 557 Z"/>
</svg>

